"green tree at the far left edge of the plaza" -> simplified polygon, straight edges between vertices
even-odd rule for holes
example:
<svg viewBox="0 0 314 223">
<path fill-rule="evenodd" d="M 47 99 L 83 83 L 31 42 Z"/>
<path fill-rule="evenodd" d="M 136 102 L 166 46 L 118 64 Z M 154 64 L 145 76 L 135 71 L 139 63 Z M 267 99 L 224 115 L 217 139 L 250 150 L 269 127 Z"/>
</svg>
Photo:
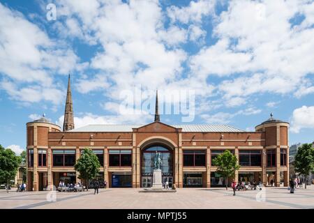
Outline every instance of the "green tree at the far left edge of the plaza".
<svg viewBox="0 0 314 223">
<path fill-rule="evenodd" d="M 10 148 L 3 148 L 0 145 L 0 181 L 6 182 L 6 192 L 8 192 L 9 180 L 15 178 L 21 161 L 21 157 L 15 155 Z"/>
</svg>

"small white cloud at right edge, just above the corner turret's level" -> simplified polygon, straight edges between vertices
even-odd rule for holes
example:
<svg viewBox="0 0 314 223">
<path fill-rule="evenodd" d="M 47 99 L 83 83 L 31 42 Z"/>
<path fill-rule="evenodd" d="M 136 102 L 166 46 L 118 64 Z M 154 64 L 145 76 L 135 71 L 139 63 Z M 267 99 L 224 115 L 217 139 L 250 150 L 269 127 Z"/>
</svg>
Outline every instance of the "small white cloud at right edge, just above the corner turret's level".
<svg viewBox="0 0 314 223">
<path fill-rule="evenodd" d="M 304 128 L 314 128 L 314 106 L 302 106 L 292 113 L 290 130 L 299 133 Z"/>
</svg>

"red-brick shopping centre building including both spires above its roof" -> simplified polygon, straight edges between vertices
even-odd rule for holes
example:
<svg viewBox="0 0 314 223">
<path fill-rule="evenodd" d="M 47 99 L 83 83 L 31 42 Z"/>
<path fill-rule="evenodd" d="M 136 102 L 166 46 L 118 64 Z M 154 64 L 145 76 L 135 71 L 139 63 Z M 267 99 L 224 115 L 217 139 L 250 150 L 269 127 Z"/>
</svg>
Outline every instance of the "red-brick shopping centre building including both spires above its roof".
<svg viewBox="0 0 314 223">
<path fill-rule="evenodd" d="M 177 187 L 221 187 L 224 179 L 212 160 L 229 150 L 241 168 L 235 180 L 287 185 L 289 123 L 271 117 L 246 132 L 230 125 L 86 125 L 74 128 L 70 78 L 63 130 L 43 117 L 27 123 L 28 190 L 45 190 L 59 181 L 79 181 L 75 161 L 91 148 L 100 162 L 98 179 L 109 187 L 151 187 L 154 155 L 163 158 L 163 181 Z M 51 187 L 49 187 L 51 188 Z"/>
</svg>

